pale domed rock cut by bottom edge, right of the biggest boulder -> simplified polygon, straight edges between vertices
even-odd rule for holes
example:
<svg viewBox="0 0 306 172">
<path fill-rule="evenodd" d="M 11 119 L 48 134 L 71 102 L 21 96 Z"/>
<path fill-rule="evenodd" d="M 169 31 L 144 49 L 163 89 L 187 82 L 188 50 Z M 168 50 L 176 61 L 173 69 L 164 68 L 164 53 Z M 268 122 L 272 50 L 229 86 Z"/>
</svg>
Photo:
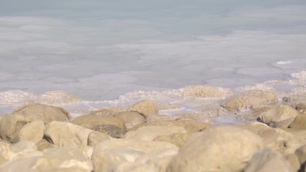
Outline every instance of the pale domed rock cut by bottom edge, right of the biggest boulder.
<svg viewBox="0 0 306 172">
<path fill-rule="evenodd" d="M 245 172 L 293 171 L 285 157 L 276 150 L 265 148 L 256 152 L 248 162 Z"/>
</svg>

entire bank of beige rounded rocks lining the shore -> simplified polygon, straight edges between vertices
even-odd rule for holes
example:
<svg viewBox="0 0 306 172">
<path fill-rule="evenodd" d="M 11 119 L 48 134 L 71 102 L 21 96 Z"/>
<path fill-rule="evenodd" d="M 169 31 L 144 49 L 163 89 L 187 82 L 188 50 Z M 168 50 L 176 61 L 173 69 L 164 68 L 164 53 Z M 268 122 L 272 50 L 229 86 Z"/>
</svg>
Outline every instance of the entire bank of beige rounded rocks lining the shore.
<svg viewBox="0 0 306 172">
<path fill-rule="evenodd" d="M 286 100 L 286 99 L 284 99 Z M 72 119 L 62 108 L 26 105 L 0 117 L 0 171 L 304 171 L 306 111 L 250 92 L 220 107 L 257 117 L 213 126 L 159 114 L 152 101 Z"/>
</svg>

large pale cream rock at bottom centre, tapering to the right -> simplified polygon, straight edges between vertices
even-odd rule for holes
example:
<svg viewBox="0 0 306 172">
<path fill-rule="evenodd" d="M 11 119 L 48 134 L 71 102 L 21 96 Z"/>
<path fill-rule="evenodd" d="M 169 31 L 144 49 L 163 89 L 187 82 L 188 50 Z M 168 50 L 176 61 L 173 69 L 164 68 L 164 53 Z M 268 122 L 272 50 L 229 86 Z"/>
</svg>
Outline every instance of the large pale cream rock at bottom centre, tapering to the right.
<svg viewBox="0 0 306 172">
<path fill-rule="evenodd" d="M 116 162 L 133 162 L 144 153 L 160 149 L 178 149 L 177 146 L 159 141 L 111 139 L 102 141 L 94 148 L 92 160 L 95 171 L 107 171 Z"/>
</svg>

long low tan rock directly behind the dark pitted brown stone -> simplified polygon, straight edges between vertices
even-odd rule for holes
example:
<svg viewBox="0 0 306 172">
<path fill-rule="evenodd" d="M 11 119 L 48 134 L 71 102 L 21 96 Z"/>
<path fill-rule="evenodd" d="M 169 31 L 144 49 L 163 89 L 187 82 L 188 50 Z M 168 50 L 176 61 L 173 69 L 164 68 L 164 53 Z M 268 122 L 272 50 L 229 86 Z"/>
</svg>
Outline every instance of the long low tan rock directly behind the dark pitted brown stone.
<svg viewBox="0 0 306 172">
<path fill-rule="evenodd" d="M 126 130 L 125 122 L 117 117 L 103 117 L 100 115 L 82 115 L 75 118 L 71 123 L 77 124 L 84 128 L 92 129 L 97 125 L 114 125 L 123 130 Z"/>
</svg>

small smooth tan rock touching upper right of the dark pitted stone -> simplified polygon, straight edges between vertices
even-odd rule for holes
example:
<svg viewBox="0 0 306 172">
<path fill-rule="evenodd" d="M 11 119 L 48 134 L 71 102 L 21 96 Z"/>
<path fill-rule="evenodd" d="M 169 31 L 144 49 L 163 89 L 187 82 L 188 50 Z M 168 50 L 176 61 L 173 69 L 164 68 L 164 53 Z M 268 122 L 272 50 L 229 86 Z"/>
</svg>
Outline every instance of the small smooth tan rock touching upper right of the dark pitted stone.
<svg viewBox="0 0 306 172">
<path fill-rule="evenodd" d="M 128 129 L 145 122 L 145 117 L 137 112 L 120 112 L 116 117 L 123 119 Z"/>
</svg>

